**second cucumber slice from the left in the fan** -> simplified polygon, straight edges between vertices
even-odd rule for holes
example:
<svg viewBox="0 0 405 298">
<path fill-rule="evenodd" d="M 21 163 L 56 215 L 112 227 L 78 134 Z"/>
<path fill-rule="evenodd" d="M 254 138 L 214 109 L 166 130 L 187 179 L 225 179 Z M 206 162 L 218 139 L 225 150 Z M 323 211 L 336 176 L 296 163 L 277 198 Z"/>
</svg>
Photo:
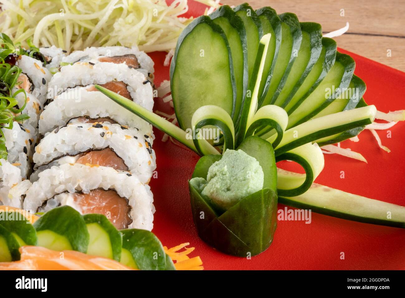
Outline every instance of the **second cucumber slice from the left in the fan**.
<svg viewBox="0 0 405 298">
<path fill-rule="evenodd" d="M 247 49 L 245 25 L 243 25 L 242 19 L 236 15 L 233 9 L 228 5 L 220 6 L 220 8 L 211 13 L 209 17 L 224 30 L 232 53 L 237 89 L 234 123 L 237 123 L 248 84 L 247 51 L 244 51 L 244 49 Z"/>
</svg>

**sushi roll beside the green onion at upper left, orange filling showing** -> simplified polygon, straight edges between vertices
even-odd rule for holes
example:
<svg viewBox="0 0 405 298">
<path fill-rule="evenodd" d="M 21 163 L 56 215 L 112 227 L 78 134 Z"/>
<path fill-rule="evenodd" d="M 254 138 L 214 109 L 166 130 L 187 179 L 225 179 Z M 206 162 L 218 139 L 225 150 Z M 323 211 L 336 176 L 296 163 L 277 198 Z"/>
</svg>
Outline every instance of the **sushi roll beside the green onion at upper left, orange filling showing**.
<svg viewBox="0 0 405 298">
<path fill-rule="evenodd" d="M 33 94 L 43 105 L 47 99 L 48 83 L 51 73 L 43 66 L 40 60 L 30 56 L 21 55 L 16 65 L 22 70 L 17 88 L 23 88 L 27 94 Z"/>
</svg>

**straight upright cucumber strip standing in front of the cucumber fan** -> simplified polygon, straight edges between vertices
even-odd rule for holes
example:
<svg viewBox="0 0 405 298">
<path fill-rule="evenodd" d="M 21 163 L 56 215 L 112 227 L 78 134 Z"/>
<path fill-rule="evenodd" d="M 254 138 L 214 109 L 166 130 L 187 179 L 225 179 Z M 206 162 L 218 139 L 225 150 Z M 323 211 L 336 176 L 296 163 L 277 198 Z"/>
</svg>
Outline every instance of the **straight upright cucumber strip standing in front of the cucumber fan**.
<svg viewBox="0 0 405 298">
<path fill-rule="evenodd" d="M 247 90 L 245 101 L 243 103 L 243 109 L 241 112 L 237 145 L 241 144 L 243 139 L 245 139 L 247 129 L 252 124 L 254 115 L 258 107 L 258 93 L 260 89 L 260 82 L 262 81 L 263 69 L 266 62 L 266 55 L 269 48 L 270 38 L 271 34 L 267 33 L 262 37 L 262 39 L 260 39 L 252 77 L 250 78 L 249 90 Z M 252 92 L 251 96 L 249 96 L 249 92 Z"/>
</svg>

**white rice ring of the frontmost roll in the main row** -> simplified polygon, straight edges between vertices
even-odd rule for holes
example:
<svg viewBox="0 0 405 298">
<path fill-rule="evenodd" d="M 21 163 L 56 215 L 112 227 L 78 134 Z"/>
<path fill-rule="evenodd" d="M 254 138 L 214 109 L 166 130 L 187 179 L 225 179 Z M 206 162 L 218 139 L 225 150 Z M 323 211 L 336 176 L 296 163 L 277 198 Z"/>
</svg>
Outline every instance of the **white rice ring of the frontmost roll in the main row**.
<svg viewBox="0 0 405 298">
<path fill-rule="evenodd" d="M 131 206 L 130 217 L 132 223 L 128 228 L 146 229 L 153 228 L 153 195 L 148 185 L 139 181 L 128 172 L 116 171 L 111 167 L 91 167 L 81 164 L 64 164 L 59 167 L 52 167 L 39 174 L 38 181 L 34 182 L 26 192 L 24 209 L 38 210 L 43 203 L 49 199 L 56 202 L 49 202 L 48 207 L 58 205 L 70 205 L 82 212 L 72 200 L 65 196 L 58 196 L 61 193 L 90 193 L 94 189 L 113 189 L 121 197 L 128 199 Z M 52 200 L 50 200 L 52 201 Z M 46 211 L 46 210 L 45 210 Z"/>
</svg>

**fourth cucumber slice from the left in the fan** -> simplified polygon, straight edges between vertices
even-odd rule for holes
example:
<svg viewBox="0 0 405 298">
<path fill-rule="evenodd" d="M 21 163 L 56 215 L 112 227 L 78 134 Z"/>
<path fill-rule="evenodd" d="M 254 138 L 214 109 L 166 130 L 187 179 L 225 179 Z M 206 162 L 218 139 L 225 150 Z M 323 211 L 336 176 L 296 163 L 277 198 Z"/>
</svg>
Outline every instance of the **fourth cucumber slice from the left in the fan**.
<svg viewBox="0 0 405 298">
<path fill-rule="evenodd" d="M 266 62 L 263 67 L 263 77 L 260 81 L 259 98 L 261 99 L 262 95 L 266 94 L 269 89 L 279 54 L 281 45 L 281 20 L 276 11 L 269 6 L 256 10 L 256 13 L 262 23 L 263 35 L 267 33 L 271 34 L 269 49 L 266 54 Z M 259 100 L 259 102 L 261 101 Z"/>
</svg>

